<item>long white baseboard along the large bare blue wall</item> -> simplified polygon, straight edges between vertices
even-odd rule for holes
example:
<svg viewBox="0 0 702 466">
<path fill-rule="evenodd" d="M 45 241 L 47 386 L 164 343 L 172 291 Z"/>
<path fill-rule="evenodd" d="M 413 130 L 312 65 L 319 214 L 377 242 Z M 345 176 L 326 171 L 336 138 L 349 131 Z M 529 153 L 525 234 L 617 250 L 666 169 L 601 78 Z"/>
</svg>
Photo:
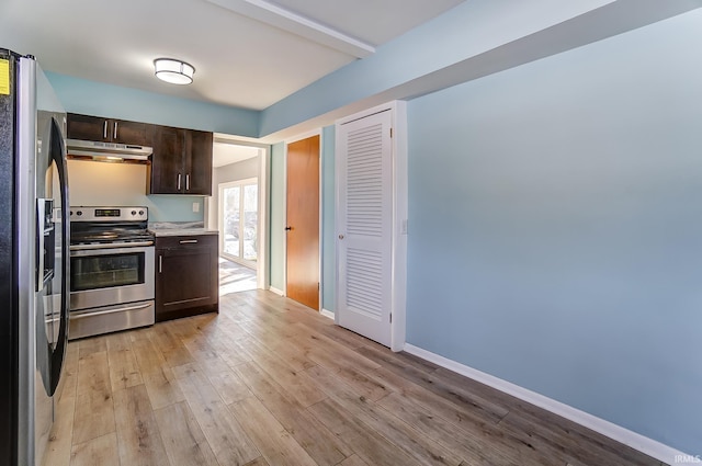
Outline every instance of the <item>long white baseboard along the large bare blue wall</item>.
<svg viewBox="0 0 702 466">
<path fill-rule="evenodd" d="M 585 411 L 580 411 L 579 409 L 565 405 L 561 401 L 556 401 L 535 391 L 531 391 L 526 388 L 520 387 L 519 385 L 514 385 L 511 382 L 502 380 L 501 378 L 495 377 L 490 374 L 486 374 L 473 367 L 468 367 L 458 362 L 444 356 L 440 356 L 439 354 L 434 354 L 421 348 L 414 346 L 407 343 L 405 344 L 405 351 L 419 356 L 422 360 L 432 362 L 444 368 L 448 368 L 468 378 L 496 388 L 500 391 L 509 394 L 513 397 L 517 397 L 521 400 L 535 405 L 540 408 L 545 409 L 546 411 L 553 412 L 554 414 L 558 414 L 573 422 L 577 422 L 580 425 L 599 432 L 602 435 L 623 443 L 624 445 L 631 446 L 632 448 L 638 450 L 639 452 L 645 453 L 646 455 L 659 459 L 664 463 L 675 464 L 677 461 L 676 458 L 692 457 L 691 455 L 686 455 L 682 452 L 668 445 L 664 445 L 663 443 L 657 442 L 653 439 L 648 439 L 636 432 L 632 432 L 629 429 L 624 429 L 621 425 L 616 425 L 610 421 L 605 421 L 604 419 L 600 419 Z M 677 461 L 677 463 L 680 462 Z"/>
</svg>

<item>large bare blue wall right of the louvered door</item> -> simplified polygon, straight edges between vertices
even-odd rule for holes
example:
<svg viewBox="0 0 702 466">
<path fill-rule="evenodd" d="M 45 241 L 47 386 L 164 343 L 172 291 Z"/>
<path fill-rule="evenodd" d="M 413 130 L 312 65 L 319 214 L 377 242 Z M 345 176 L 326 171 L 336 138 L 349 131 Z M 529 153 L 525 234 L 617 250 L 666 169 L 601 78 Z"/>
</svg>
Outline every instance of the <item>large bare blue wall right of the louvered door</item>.
<svg viewBox="0 0 702 466">
<path fill-rule="evenodd" d="M 701 31 L 409 103 L 409 343 L 702 453 Z"/>
</svg>

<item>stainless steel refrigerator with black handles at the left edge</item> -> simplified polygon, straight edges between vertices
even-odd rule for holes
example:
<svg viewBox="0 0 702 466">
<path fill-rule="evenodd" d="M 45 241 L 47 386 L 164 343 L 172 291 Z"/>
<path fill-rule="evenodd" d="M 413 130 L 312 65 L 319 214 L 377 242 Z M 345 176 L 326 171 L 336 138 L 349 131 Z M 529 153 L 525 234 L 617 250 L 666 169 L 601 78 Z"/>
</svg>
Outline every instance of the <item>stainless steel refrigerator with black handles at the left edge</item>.
<svg viewBox="0 0 702 466">
<path fill-rule="evenodd" d="M 55 416 L 70 289 L 65 129 L 34 58 L 0 48 L 0 465 L 41 464 Z"/>
</svg>

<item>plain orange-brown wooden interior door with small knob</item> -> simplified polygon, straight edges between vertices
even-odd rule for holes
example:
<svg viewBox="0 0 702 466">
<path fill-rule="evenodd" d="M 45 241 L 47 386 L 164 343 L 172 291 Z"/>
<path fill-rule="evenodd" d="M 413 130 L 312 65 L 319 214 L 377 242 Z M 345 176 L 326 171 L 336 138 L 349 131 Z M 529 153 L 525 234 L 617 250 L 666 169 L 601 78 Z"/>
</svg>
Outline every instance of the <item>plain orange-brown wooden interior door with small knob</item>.
<svg viewBox="0 0 702 466">
<path fill-rule="evenodd" d="M 287 297 L 319 310 L 319 136 L 287 145 Z"/>
</svg>

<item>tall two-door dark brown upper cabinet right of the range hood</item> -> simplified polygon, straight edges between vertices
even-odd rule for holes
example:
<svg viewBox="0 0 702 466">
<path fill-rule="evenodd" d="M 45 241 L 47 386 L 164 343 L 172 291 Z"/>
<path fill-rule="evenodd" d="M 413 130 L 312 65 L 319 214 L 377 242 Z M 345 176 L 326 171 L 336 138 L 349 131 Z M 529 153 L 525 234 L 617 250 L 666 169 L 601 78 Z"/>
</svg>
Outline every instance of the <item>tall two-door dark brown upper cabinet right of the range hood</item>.
<svg viewBox="0 0 702 466">
<path fill-rule="evenodd" d="M 149 194 L 212 195 L 212 133 L 159 126 Z"/>
</svg>

